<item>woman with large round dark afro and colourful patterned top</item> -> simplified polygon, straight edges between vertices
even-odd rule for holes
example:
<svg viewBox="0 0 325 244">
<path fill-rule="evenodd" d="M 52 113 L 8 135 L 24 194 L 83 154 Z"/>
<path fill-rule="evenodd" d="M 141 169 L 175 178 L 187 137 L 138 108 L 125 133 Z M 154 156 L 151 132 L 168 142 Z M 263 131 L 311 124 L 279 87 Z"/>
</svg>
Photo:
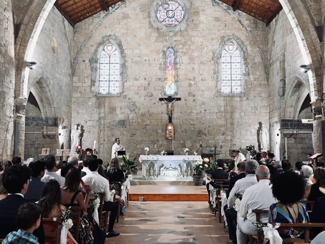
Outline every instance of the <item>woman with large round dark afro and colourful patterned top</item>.
<svg viewBox="0 0 325 244">
<path fill-rule="evenodd" d="M 306 181 L 293 171 L 273 175 L 272 193 L 279 202 L 269 209 L 269 223 L 309 223 L 306 206 L 299 201 L 303 198 Z M 279 227 L 282 238 L 301 238 L 303 228 Z"/>
</svg>

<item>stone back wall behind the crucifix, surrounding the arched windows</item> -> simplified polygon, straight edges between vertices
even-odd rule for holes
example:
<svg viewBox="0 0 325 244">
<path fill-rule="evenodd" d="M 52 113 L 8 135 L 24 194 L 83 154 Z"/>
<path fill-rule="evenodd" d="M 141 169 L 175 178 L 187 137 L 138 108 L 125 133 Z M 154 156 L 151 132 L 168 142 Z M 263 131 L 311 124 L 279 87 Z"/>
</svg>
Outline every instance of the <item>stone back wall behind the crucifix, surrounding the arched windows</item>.
<svg viewBox="0 0 325 244">
<path fill-rule="evenodd" d="M 96 140 L 104 160 L 110 159 L 115 137 L 131 157 L 144 154 L 146 146 L 150 154 L 172 149 L 172 141 L 165 139 L 167 105 L 158 101 L 165 97 L 164 52 L 170 46 L 177 55 L 177 97 L 182 99 L 173 108 L 175 154 L 184 154 L 185 147 L 192 153 L 200 144 L 216 145 L 219 158 L 228 158 L 230 149 L 257 147 L 259 122 L 269 128 L 271 103 L 265 24 L 219 1 L 186 1 L 191 6 L 186 28 L 164 32 L 152 25 L 152 3 L 127 1 L 76 24 L 72 125 L 84 126 L 82 147 Z M 92 67 L 108 40 L 121 51 L 122 92 L 102 97 Z M 230 41 L 244 57 L 243 96 L 220 94 L 216 59 Z"/>
</svg>

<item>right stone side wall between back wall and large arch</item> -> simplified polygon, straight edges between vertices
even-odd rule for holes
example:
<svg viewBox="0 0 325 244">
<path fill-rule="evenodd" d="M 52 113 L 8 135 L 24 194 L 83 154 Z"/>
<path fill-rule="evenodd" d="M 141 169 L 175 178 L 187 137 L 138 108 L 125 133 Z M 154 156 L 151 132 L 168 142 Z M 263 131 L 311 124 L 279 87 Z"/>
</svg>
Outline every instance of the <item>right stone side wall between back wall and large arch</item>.
<svg viewBox="0 0 325 244">
<path fill-rule="evenodd" d="M 287 156 L 291 163 L 305 161 L 308 153 L 313 153 L 312 134 L 292 133 L 286 125 L 301 118 L 312 118 L 310 108 L 300 114 L 300 108 L 309 92 L 307 74 L 300 71 L 303 57 L 297 39 L 284 12 L 275 18 L 268 29 L 269 75 L 269 112 L 270 143 L 275 151 L 280 148 L 281 160 L 285 155 L 285 137 L 287 137 Z M 305 117 L 307 116 L 307 117 Z M 306 129 L 306 128 L 305 128 Z M 308 129 L 308 128 L 307 128 Z M 291 133 L 290 133 L 291 131 Z M 309 131 L 312 129 L 309 128 Z"/>
</svg>

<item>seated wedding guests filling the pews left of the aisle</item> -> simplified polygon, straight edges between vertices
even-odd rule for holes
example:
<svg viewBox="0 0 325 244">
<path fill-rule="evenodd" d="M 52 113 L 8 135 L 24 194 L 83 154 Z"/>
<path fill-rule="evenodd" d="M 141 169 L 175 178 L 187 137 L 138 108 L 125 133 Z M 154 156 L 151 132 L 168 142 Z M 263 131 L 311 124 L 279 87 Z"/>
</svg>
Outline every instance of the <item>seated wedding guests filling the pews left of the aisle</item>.
<svg viewBox="0 0 325 244">
<path fill-rule="evenodd" d="M 0 161 L 2 243 L 57 243 L 57 237 L 45 233 L 58 232 L 58 222 L 43 222 L 43 219 L 60 218 L 71 207 L 72 216 L 77 216 L 77 211 L 81 213 L 76 222 L 79 226 L 74 224 L 68 230 L 64 243 L 102 244 L 106 238 L 119 235 L 113 227 L 118 214 L 117 204 L 124 205 L 124 201 L 116 195 L 114 200 L 118 203 L 112 202 L 114 193 L 110 191 L 109 183 L 109 180 L 124 180 L 117 159 L 112 160 L 108 170 L 95 155 L 87 156 L 82 165 L 78 164 L 76 157 L 69 158 L 68 162 L 55 162 L 53 155 L 42 160 L 29 160 L 27 164 L 22 165 L 20 157 L 5 163 Z M 110 211 L 108 232 L 101 229 L 87 212 L 92 193 L 105 193 L 103 211 Z"/>
</svg>

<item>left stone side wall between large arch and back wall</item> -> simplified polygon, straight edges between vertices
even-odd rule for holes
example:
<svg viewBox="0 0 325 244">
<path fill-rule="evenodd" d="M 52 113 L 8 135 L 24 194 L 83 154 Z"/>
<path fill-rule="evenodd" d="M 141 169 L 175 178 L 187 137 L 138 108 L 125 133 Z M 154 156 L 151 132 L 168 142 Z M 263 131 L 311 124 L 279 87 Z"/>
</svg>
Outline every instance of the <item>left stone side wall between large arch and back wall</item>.
<svg viewBox="0 0 325 244">
<path fill-rule="evenodd" d="M 39 106 L 39 112 L 36 114 L 35 106 L 27 103 L 25 132 L 38 133 L 25 134 L 25 159 L 37 158 L 42 148 L 50 148 L 50 153 L 55 154 L 55 149 L 61 147 L 58 127 L 65 124 L 70 129 L 73 93 L 70 54 L 72 41 L 72 26 L 53 7 L 32 56 L 32 60 L 37 62 L 36 69 L 29 72 L 28 91 L 35 97 L 34 102 Z M 67 142 L 64 148 L 69 146 Z"/>
</svg>

